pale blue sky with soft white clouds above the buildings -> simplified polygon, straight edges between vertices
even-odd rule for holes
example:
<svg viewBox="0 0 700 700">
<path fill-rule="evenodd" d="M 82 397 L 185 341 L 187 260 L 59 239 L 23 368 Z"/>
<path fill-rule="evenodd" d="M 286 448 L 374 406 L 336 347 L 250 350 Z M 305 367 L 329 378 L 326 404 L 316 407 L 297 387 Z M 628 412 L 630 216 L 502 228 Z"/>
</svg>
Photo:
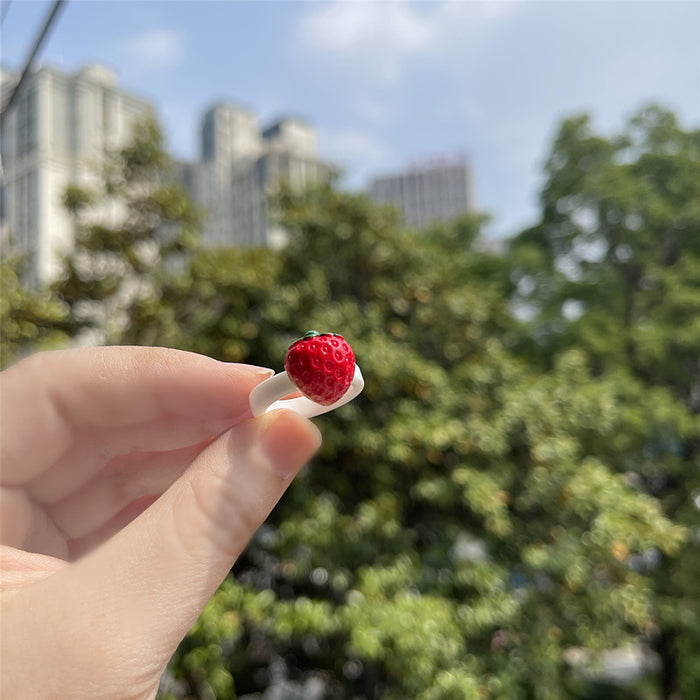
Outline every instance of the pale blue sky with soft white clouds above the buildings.
<svg viewBox="0 0 700 700">
<path fill-rule="evenodd" d="M 21 66 L 50 5 L 12 2 L 4 66 Z M 263 125 L 314 123 L 349 187 L 466 153 L 494 236 L 536 217 L 564 116 L 589 112 L 611 132 L 657 101 L 700 126 L 697 2 L 72 0 L 41 60 L 114 68 L 156 105 L 178 157 L 196 157 L 200 115 L 220 99 Z"/>
</svg>

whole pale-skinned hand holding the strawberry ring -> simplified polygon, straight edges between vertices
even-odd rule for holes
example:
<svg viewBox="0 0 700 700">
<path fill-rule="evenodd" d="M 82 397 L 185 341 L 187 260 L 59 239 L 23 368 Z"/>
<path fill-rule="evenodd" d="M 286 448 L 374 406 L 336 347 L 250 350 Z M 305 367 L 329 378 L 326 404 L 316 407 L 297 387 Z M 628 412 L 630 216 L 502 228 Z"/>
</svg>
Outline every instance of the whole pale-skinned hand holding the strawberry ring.
<svg viewBox="0 0 700 700">
<path fill-rule="evenodd" d="M 159 348 L 0 374 L 0 696 L 153 698 L 318 430 L 252 418 L 270 375 Z"/>
</svg>

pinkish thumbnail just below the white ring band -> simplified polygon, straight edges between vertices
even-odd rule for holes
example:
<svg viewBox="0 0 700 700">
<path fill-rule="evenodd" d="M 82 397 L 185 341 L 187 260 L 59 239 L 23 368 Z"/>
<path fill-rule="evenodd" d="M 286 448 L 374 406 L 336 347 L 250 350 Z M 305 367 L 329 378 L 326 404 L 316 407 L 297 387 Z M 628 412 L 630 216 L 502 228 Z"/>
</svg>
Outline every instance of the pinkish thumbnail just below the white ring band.
<svg viewBox="0 0 700 700">
<path fill-rule="evenodd" d="M 260 420 L 260 442 L 270 469 L 291 479 L 320 447 L 320 431 L 294 411 L 270 411 Z"/>
</svg>

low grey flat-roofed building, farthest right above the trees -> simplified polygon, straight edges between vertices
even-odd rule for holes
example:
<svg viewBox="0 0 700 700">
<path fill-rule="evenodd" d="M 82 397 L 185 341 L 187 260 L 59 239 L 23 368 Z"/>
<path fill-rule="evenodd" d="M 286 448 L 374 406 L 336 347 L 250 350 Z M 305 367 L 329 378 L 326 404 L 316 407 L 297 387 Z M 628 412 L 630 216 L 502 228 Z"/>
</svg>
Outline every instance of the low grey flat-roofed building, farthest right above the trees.
<svg viewBox="0 0 700 700">
<path fill-rule="evenodd" d="M 396 206 L 403 223 L 411 228 L 453 221 L 474 210 L 471 173 L 464 158 L 375 178 L 370 196 Z"/>
</svg>

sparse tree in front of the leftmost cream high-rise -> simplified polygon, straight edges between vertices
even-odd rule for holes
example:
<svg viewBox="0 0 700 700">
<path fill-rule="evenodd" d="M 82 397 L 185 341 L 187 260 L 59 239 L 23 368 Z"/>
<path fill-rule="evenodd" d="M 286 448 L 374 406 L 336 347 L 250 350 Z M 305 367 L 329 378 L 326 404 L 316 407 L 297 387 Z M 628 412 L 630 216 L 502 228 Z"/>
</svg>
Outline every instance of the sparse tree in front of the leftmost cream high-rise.
<svg viewBox="0 0 700 700">
<path fill-rule="evenodd" d="M 72 185 L 64 205 L 75 247 L 54 292 L 95 339 L 123 340 L 127 309 L 157 294 L 160 277 L 196 249 L 201 215 L 174 184 L 160 127 L 152 118 L 108 154 L 94 187 Z"/>
</svg>

